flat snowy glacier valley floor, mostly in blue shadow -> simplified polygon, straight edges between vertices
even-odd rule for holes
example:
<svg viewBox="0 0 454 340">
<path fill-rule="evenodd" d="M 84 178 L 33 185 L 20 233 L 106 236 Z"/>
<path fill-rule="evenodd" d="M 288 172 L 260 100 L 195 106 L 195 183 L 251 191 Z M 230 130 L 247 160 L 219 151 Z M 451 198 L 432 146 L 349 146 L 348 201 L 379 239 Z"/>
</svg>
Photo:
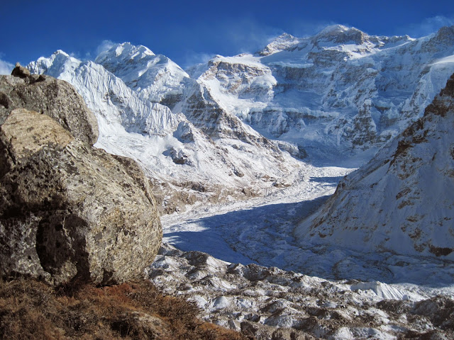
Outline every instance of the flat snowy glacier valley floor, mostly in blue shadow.
<svg viewBox="0 0 454 340">
<path fill-rule="evenodd" d="M 297 186 L 248 201 L 193 206 L 162 216 L 163 242 L 231 263 L 275 266 L 328 280 L 380 281 L 397 288 L 400 297 L 454 296 L 454 263 L 297 244 L 292 236 L 295 225 L 319 208 L 351 171 L 308 165 L 301 169 Z M 387 298 L 386 293 L 375 293 Z"/>
</svg>

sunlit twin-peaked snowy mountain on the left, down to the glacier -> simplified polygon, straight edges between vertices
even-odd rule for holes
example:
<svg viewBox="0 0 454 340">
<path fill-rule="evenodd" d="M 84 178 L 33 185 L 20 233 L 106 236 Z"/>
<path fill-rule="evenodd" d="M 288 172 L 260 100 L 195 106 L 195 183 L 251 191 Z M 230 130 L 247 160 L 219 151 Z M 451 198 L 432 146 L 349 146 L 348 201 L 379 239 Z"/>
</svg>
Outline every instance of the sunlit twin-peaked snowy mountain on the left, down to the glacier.
<svg viewBox="0 0 454 340">
<path fill-rule="evenodd" d="M 156 98 L 168 98 L 165 94 L 174 93 L 170 88 L 178 87 L 172 82 L 176 79 L 172 74 L 165 83 L 169 91 L 153 78 L 160 72 L 167 74 L 162 71 L 162 64 L 156 62 L 157 59 L 167 60 L 165 57 L 128 43 L 112 51 L 114 56 L 109 57 L 105 52 L 97 60 L 108 66 L 116 65 L 111 66 L 112 70 L 128 81 L 129 86 L 101 64 L 82 62 L 62 51 L 48 58 L 41 57 L 28 68 L 33 73 L 68 81 L 79 91 L 99 120 L 96 146 L 137 160 L 153 180 L 165 211 L 182 209 L 197 200 L 247 198 L 260 191 L 288 186 L 297 179 L 294 173 L 300 165 L 295 159 L 236 116 L 219 110 L 216 103 L 199 98 L 204 92 L 193 79 L 185 78 L 192 87 L 184 88 L 184 94 L 191 96 L 183 96 L 184 103 L 180 107 L 197 107 L 189 112 L 190 118 L 196 113 L 202 116 L 216 113 L 214 127 L 207 124 L 204 129 L 197 128 L 182 110 L 172 113 L 169 107 L 152 102 Z M 131 57 L 129 62 L 121 62 L 127 60 L 125 53 Z M 170 60 L 167 63 L 173 66 L 170 73 L 176 70 L 184 76 L 175 63 Z M 138 74 L 142 78 L 131 80 L 139 77 Z M 162 91 L 163 95 L 160 97 L 159 91 L 154 89 Z M 199 126 L 203 124 L 194 122 Z M 221 132 L 216 138 L 207 135 L 216 129 Z"/>
</svg>

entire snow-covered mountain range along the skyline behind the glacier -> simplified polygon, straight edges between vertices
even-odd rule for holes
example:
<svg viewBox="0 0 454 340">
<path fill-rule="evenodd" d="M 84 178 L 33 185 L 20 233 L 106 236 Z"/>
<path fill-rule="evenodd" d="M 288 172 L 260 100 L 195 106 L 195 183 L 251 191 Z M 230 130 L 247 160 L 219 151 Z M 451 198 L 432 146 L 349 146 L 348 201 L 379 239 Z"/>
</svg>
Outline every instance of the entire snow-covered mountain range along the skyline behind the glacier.
<svg viewBox="0 0 454 340">
<path fill-rule="evenodd" d="M 376 152 L 421 115 L 453 55 L 454 28 L 412 39 L 330 26 L 187 72 L 128 42 L 95 62 L 57 51 L 28 68 L 73 84 L 99 120 L 97 146 L 142 164 L 173 211 L 289 186 L 308 155 L 338 165 Z"/>
</svg>

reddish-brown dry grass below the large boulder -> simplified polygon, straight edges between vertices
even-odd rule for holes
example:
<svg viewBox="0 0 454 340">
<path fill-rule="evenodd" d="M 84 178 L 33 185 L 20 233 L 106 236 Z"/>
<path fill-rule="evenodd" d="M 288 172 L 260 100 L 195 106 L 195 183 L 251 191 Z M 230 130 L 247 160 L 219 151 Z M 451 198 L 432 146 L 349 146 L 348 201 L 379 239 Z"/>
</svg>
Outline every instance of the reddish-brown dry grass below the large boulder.
<svg viewBox="0 0 454 340">
<path fill-rule="evenodd" d="M 147 281 L 55 290 L 36 280 L 0 281 L 0 339 L 247 339 L 201 322 L 198 312 Z"/>
</svg>

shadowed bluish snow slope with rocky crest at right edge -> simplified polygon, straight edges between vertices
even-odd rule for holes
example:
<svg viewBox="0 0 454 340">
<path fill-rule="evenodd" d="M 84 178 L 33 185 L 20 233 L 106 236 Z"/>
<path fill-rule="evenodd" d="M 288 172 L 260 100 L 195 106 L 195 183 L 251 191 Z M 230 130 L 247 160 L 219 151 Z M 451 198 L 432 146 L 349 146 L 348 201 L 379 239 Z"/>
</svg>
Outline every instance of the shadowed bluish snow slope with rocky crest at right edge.
<svg viewBox="0 0 454 340">
<path fill-rule="evenodd" d="M 302 244 L 454 259 L 454 74 L 365 166 L 296 229 Z"/>
</svg>

